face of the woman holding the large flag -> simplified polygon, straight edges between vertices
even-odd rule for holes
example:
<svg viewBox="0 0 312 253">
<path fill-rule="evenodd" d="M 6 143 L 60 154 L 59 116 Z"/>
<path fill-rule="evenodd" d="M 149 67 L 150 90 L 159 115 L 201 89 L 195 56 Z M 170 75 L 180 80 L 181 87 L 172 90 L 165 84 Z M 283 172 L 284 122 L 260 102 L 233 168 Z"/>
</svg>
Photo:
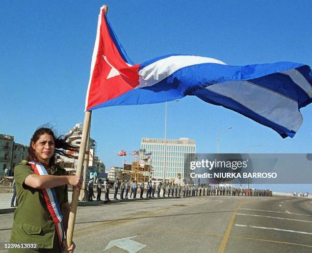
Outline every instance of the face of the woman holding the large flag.
<svg viewBox="0 0 312 253">
<path fill-rule="evenodd" d="M 32 142 L 38 162 L 48 164 L 51 156 L 54 154 L 55 143 L 51 135 L 43 134 L 36 143 Z"/>
</svg>

